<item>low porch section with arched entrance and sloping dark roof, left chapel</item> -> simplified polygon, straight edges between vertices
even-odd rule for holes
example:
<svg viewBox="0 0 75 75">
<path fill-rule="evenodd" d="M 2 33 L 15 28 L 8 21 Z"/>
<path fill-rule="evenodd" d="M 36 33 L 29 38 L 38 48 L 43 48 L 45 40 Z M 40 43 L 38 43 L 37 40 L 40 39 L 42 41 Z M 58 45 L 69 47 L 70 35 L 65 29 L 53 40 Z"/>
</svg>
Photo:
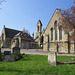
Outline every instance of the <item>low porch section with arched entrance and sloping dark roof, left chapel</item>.
<svg viewBox="0 0 75 75">
<path fill-rule="evenodd" d="M 34 49 L 36 48 L 34 39 L 24 32 L 16 34 L 11 41 L 11 48 L 19 47 L 22 49 Z"/>
</svg>

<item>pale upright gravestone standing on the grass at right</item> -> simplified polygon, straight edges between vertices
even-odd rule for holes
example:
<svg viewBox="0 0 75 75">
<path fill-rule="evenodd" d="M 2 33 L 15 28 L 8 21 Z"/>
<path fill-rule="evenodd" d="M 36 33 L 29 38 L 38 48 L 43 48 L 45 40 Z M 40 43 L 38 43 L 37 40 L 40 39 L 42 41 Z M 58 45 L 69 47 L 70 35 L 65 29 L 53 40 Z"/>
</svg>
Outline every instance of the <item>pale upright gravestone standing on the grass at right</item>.
<svg viewBox="0 0 75 75">
<path fill-rule="evenodd" d="M 57 54 L 56 54 L 56 52 L 49 52 L 48 53 L 48 62 L 54 66 L 57 65 Z"/>
</svg>

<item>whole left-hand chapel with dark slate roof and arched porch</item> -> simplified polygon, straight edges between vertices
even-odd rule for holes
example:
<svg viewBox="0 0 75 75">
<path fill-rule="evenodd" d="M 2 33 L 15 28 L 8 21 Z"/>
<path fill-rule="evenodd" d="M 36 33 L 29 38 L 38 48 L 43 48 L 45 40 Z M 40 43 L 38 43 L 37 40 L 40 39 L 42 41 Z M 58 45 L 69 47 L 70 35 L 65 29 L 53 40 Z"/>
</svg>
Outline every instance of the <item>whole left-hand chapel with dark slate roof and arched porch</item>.
<svg viewBox="0 0 75 75">
<path fill-rule="evenodd" d="M 4 25 L 1 34 L 1 47 L 13 48 L 17 46 L 20 48 L 35 48 L 35 40 L 24 31 L 6 28 Z"/>
</svg>

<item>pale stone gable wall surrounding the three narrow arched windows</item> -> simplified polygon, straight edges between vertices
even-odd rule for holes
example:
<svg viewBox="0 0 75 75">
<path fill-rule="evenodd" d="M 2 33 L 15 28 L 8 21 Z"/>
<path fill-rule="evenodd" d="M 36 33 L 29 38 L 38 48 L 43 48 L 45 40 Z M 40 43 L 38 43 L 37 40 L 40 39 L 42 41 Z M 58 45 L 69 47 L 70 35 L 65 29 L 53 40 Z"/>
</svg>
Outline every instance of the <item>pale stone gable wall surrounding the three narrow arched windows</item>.
<svg viewBox="0 0 75 75">
<path fill-rule="evenodd" d="M 45 43 L 43 45 L 43 50 L 48 51 L 48 48 L 49 48 L 49 51 L 54 51 L 54 52 L 59 52 L 59 53 L 68 53 L 68 43 L 65 43 L 65 41 L 68 41 L 68 34 L 65 34 L 63 29 L 62 29 L 62 40 L 60 40 L 59 28 L 57 27 L 57 40 L 55 40 L 55 24 L 54 23 L 55 21 L 57 21 L 57 26 L 58 26 L 59 17 L 63 17 L 61 14 L 58 15 L 57 14 L 58 12 L 59 12 L 58 10 L 54 12 L 43 34 L 44 35 L 43 42 Z M 53 28 L 53 40 L 51 40 L 51 28 Z M 49 35 L 49 42 L 53 42 L 53 43 L 48 44 L 47 35 Z M 57 44 L 56 42 L 59 42 L 59 43 Z M 71 47 L 73 46 L 71 45 Z M 73 50 L 71 50 L 70 52 L 73 53 Z"/>
</svg>

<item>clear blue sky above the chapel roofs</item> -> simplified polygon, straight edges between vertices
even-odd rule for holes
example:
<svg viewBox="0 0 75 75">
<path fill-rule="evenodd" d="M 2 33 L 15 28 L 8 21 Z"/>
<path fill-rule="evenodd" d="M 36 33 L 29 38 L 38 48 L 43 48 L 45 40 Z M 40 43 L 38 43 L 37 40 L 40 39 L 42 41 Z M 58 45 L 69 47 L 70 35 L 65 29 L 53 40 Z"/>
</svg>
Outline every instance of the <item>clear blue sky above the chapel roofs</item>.
<svg viewBox="0 0 75 75">
<path fill-rule="evenodd" d="M 43 30 L 56 8 L 67 9 L 72 4 L 73 0 L 6 0 L 0 5 L 0 35 L 4 25 L 20 31 L 25 28 L 36 35 L 39 19 Z"/>
</svg>

